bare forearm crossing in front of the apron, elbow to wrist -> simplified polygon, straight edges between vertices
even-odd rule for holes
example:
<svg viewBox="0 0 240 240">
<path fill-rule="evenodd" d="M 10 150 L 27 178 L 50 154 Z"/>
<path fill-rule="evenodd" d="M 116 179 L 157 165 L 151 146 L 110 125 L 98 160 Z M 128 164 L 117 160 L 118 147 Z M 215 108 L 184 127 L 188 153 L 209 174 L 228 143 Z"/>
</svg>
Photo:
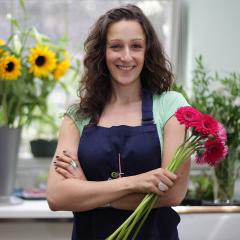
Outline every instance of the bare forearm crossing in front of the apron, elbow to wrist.
<svg viewBox="0 0 240 240">
<path fill-rule="evenodd" d="M 66 179 L 49 186 L 47 195 L 52 210 L 87 211 L 131 192 L 126 178 L 102 182 Z"/>
</svg>

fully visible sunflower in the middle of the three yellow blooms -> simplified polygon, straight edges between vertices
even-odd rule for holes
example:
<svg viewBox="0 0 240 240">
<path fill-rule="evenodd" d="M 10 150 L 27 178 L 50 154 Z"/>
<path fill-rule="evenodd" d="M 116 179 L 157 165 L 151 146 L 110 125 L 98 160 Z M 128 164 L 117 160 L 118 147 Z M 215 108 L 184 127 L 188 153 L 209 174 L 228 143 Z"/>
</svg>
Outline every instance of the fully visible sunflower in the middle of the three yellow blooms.
<svg viewBox="0 0 240 240">
<path fill-rule="evenodd" d="M 47 77 L 56 67 L 55 53 L 47 46 L 37 45 L 30 50 L 28 62 L 31 64 L 30 72 L 36 77 Z"/>
</svg>

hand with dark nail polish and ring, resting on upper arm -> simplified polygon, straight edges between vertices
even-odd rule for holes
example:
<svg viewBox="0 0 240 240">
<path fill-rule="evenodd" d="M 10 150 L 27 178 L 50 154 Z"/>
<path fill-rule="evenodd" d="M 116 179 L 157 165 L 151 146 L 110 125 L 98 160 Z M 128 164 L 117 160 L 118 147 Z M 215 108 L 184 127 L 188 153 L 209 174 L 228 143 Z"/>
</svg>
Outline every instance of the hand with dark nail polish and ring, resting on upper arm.
<svg viewBox="0 0 240 240">
<path fill-rule="evenodd" d="M 64 178 L 86 180 L 77 156 L 68 151 L 63 151 L 62 154 L 57 155 L 54 165 L 56 172 Z"/>
</svg>

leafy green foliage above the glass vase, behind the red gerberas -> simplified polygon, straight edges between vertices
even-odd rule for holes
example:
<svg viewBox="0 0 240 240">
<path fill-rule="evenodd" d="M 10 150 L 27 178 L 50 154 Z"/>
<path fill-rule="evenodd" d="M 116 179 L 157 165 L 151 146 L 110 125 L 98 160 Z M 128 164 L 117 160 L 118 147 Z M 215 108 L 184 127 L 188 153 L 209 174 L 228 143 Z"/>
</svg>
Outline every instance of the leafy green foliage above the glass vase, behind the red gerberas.
<svg viewBox="0 0 240 240">
<path fill-rule="evenodd" d="M 191 104 L 199 111 L 211 114 L 227 130 L 227 144 L 240 158 L 240 74 L 231 72 L 220 77 L 206 70 L 202 56 L 196 58 L 193 71 Z"/>
</svg>

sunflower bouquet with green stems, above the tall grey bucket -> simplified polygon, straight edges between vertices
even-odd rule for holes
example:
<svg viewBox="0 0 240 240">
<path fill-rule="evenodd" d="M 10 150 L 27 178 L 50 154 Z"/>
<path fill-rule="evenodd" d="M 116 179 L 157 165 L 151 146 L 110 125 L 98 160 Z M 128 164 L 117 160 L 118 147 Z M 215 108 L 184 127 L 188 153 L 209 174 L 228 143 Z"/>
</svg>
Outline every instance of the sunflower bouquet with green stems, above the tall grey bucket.
<svg viewBox="0 0 240 240">
<path fill-rule="evenodd" d="M 7 16 L 12 34 L 0 39 L 0 126 L 22 127 L 48 114 L 48 96 L 62 81 L 70 66 L 67 39 L 57 44 L 36 28 L 22 29 Z M 43 114 L 44 113 L 44 114 Z"/>
</svg>

